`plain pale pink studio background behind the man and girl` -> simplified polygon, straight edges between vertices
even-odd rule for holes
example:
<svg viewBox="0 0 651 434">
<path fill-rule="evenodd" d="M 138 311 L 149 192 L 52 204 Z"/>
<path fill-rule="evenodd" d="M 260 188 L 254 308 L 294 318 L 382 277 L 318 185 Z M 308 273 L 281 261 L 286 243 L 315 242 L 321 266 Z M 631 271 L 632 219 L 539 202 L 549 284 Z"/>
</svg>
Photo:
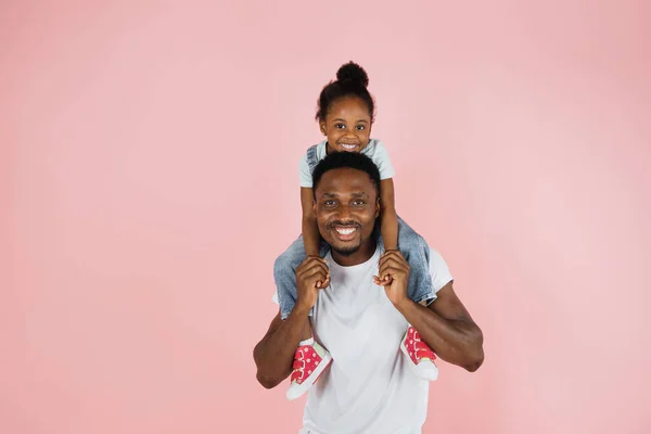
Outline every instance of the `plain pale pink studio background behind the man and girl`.
<svg viewBox="0 0 651 434">
<path fill-rule="evenodd" d="M 649 2 L 107 3 L 0 5 L 0 432 L 298 430 L 252 349 L 350 59 L 486 335 L 425 433 L 651 432 Z"/>
</svg>

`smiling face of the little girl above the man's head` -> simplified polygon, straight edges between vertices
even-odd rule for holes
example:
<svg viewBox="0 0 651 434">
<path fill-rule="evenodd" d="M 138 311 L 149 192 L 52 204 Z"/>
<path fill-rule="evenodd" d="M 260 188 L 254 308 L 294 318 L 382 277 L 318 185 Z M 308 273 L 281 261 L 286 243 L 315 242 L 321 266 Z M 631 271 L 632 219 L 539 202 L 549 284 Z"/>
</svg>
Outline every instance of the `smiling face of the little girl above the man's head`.
<svg viewBox="0 0 651 434">
<path fill-rule="evenodd" d="M 330 104 L 321 132 L 328 137 L 328 152 L 360 152 L 369 144 L 371 114 L 357 97 L 344 97 Z"/>
</svg>

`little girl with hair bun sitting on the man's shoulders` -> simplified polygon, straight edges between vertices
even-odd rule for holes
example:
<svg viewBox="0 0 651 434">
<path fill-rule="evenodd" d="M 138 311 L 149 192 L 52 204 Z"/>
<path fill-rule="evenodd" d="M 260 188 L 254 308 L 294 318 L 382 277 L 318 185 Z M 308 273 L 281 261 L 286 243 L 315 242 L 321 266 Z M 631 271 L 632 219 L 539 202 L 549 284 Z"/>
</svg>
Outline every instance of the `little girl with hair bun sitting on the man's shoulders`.
<svg viewBox="0 0 651 434">
<path fill-rule="evenodd" d="M 311 173 L 316 165 L 332 152 L 361 152 L 369 156 L 381 176 L 381 214 L 379 244 L 384 252 L 398 250 L 409 261 L 409 297 L 416 303 L 426 304 L 434 298 L 434 289 L 429 271 L 429 247 L 396 214 L 394 207 L 394 168 L 386 149 L 376 139 L 370 139 L 374 120 L 374 101 L 367 86 L 369 78 L 357 64 L 349 62 L 336 73 L 336 80 L 328 84 L 319 95 L 316 119 L 326 140 L 307 150 L 301 161 L 301 203 L 303 205 L 303 234 L 281 256 L 273 266 L 280 315 L 284 320 L 296 303 L 295 270 L 307 256 L 323 257 L 329 246 L 321 241 L 312 212 Z M 390 284 L 388 276 L 375 278 L 378 284 Z M 317 288 L 327 288 L 329 281 L 317 282 Z M 311 316 L 311 312 L 310 312 Z M 312 337 L 311 327 L 306 328 L 303 341 L 294 355 L 291 384 L 288 399 L 295 399 L 309 390 L 319 375 L 332 361 L 330 353 Z M 400 349 L 414 373 L 423 380 L 436 380 L 438 369 L 436 356 L 420 340 L 420 335 L 409 327 L 400 344 Z"/>
</svg>

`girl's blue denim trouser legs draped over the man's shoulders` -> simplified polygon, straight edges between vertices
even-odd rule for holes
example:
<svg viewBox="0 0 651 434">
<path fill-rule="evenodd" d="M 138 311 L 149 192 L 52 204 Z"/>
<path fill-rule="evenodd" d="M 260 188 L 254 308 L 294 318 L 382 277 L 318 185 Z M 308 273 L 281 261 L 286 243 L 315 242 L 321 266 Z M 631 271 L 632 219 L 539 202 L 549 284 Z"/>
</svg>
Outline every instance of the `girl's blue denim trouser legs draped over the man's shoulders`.
<svg viewBox="0 0 651 434">
<path fill-rule="evenodd" d="M 382 235 L 375 225 L 375 237 L 379 247 L 384 250 Z M 409 298 L 416 303 L 434 298 L 434 285 L 430 273 L 430 247 L 425 240 L 416 233 L 401 218 L 398 217 L 398 247 L 411 269 L 409 273 L 409 286 L 407 293 Z M 321 241 L 319 254 L 326 256 L 330 245 Z M 305 260 L 305 246 L 303 237 L 282 253 L 273 264 L 273 280 L 278 292 L 280 305 L 280 317 L 285 319 L 296 304 L 296 267 Z M 311 315 L 311 311 L 310 314 Z"/>
</svg>

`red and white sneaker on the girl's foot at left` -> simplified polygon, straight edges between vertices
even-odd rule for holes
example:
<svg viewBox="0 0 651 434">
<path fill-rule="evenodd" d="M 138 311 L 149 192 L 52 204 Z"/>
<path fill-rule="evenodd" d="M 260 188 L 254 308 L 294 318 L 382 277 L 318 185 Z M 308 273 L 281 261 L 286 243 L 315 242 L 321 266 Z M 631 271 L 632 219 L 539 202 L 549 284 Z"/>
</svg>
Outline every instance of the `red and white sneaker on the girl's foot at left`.
<svg viewBox="0 0 651 434">
<path fill-rule="evenodd" d="M 294 370 L 290 376 L 291 384 L 286 393 L 289 400 L 296 399 L 306 393 L 332 361 L 332 356 L 326 348 L 314 340 L 310 341 L 312 342 L 299 346 L 294 354 Z"/>
</svg>

